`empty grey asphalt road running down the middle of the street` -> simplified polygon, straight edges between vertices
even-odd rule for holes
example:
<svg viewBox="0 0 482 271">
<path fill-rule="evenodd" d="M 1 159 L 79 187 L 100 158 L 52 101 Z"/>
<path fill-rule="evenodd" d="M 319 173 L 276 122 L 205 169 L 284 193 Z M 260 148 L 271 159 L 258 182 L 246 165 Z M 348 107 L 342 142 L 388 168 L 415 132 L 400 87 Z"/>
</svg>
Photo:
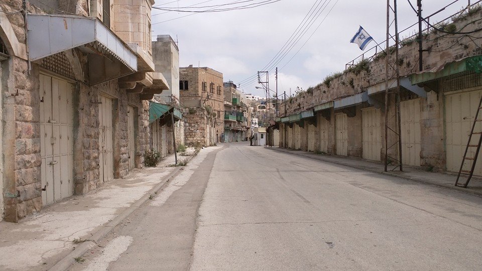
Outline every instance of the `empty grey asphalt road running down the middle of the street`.
<svg viewBox="0 0 482 271">
<path fill-rule="evenodd" d="M 482 270 L 480 197 L 249 144 L 171 185 L 73 269 Z"/>
</svg>

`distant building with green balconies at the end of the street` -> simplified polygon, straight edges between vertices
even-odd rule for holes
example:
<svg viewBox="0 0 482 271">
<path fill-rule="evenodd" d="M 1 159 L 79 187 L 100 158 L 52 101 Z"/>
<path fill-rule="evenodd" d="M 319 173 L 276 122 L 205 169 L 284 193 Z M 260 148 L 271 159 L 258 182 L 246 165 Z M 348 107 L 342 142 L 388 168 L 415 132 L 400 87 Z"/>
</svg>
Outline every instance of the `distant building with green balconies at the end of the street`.
<svg viewBox="0 0 482 271">
<path fill-rule="evenodd" d="M 248 113 L 246 95 L 237 90 L 229 81 L 223 84 L 224 92 L 224 133 L 223 142 L 246 141 L 249 137 L 251 116 Z M 249 117 L 248 117 L 249 116 Z M 250 122 L 249 122 L 250 121 Z"/>
</svg>

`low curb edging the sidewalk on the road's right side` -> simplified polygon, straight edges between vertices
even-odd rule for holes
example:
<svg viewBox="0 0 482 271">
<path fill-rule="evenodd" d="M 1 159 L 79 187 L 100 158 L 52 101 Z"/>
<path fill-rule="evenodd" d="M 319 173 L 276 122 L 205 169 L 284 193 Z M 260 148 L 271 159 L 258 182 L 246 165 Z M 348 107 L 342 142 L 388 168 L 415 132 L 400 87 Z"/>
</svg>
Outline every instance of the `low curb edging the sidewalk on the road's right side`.
<svg viewBox="0 0 482 271">
<path fill-rule="evenodd" d="M 353 169 L 358 169 L 358 170 L 363 170 L 363 171 L 368 171 L 368 172 L 373 172 L 373 173 L 378 173 L 378 174 L 390 175 L 390 176 L 393 176 L 393 177 L 398 177 L 398 178 L 401 178 L 401 179 L 414 181 L 414 182 L 417 182 L 417 183 L 428 184 L 428 185 L 433 185 L 433 186 L 443 187 L 443 188 L 449 188 L 449 189 L 452 189 L 452 190 L 455 190 L 455 191 L 458 191 L 458 192 L 467 193 L 467 194 L 471 194 L 471 195 L 474 195 L 474 196 L 479 196 L 479 197 L 482 196 L 482 191 L 469 190 L 469 189 L 457 187 L 457 186 L 454 186 L 454 185 L 432 183 L 432 182 L 429 182 L 429 181 L 420 180 L 420 179 L 413 178 L 413 177 L 410 177 L 410 176 L 403 176 L 403 175 L 400 175 L 400 174 L 397 174 L 397 173 L 392 173 L 392 172 L 384 172 L 384 171 L 378 171 L 378 170 L 368 169 L 368 168 L 364 168 L 364 167 L 359 167 L 359 166 L 355 166 L 355 165 L 347 165 L 345 163 L 325 160 L 322 157 L 313 157 L 311 155 L 305 154 L 304 152 L 298 154 L 298 153 L 294 153 L 294 152 L 290 152 L 290 151 L 285 151 L 282 148 L 276 148 L 276 149 L 271 149 L 271 150 L 286 153 L 286 154 L 302 156 L 302 157 L 306 157 L 306 158 L 309 158 L 309 159 L 323 161 L 323 162 L 326 162 L 326 163 L 331 163 L 331 164 L 349 167 L 349 168 L 353 168 Z"/>
</svg>

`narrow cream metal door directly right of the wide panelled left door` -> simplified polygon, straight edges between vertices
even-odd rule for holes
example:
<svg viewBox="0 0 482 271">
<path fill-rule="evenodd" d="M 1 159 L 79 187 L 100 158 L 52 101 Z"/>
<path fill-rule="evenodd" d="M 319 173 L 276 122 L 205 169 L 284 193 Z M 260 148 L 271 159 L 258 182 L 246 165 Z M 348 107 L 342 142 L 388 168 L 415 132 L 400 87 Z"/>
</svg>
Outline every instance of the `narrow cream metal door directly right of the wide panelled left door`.
<svg viewBox="0 0 482 271">
<path fill-rule="evenodd" d="M 112 133 L 112 99 L 100 95 L 99 106 L 99 165 L 100 180 L 105 182 L 114 178 L 114 153 Z"/>
</svg>

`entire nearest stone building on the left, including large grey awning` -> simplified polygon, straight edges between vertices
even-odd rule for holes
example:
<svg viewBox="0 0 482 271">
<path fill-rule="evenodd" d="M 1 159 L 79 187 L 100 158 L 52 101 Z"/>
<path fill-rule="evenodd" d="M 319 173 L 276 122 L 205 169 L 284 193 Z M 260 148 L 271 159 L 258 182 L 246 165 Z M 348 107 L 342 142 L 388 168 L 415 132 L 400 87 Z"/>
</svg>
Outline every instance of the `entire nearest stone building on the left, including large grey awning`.
<svg viewBox="0 0 482 271">
<path fill-rule="evenodd" d="M 151 56 L 153 1 L 48 3 L 0 2 L 0 217 L 8 221 L 142 168 L 147 100 L 168 88 Z"/>
</svg>

